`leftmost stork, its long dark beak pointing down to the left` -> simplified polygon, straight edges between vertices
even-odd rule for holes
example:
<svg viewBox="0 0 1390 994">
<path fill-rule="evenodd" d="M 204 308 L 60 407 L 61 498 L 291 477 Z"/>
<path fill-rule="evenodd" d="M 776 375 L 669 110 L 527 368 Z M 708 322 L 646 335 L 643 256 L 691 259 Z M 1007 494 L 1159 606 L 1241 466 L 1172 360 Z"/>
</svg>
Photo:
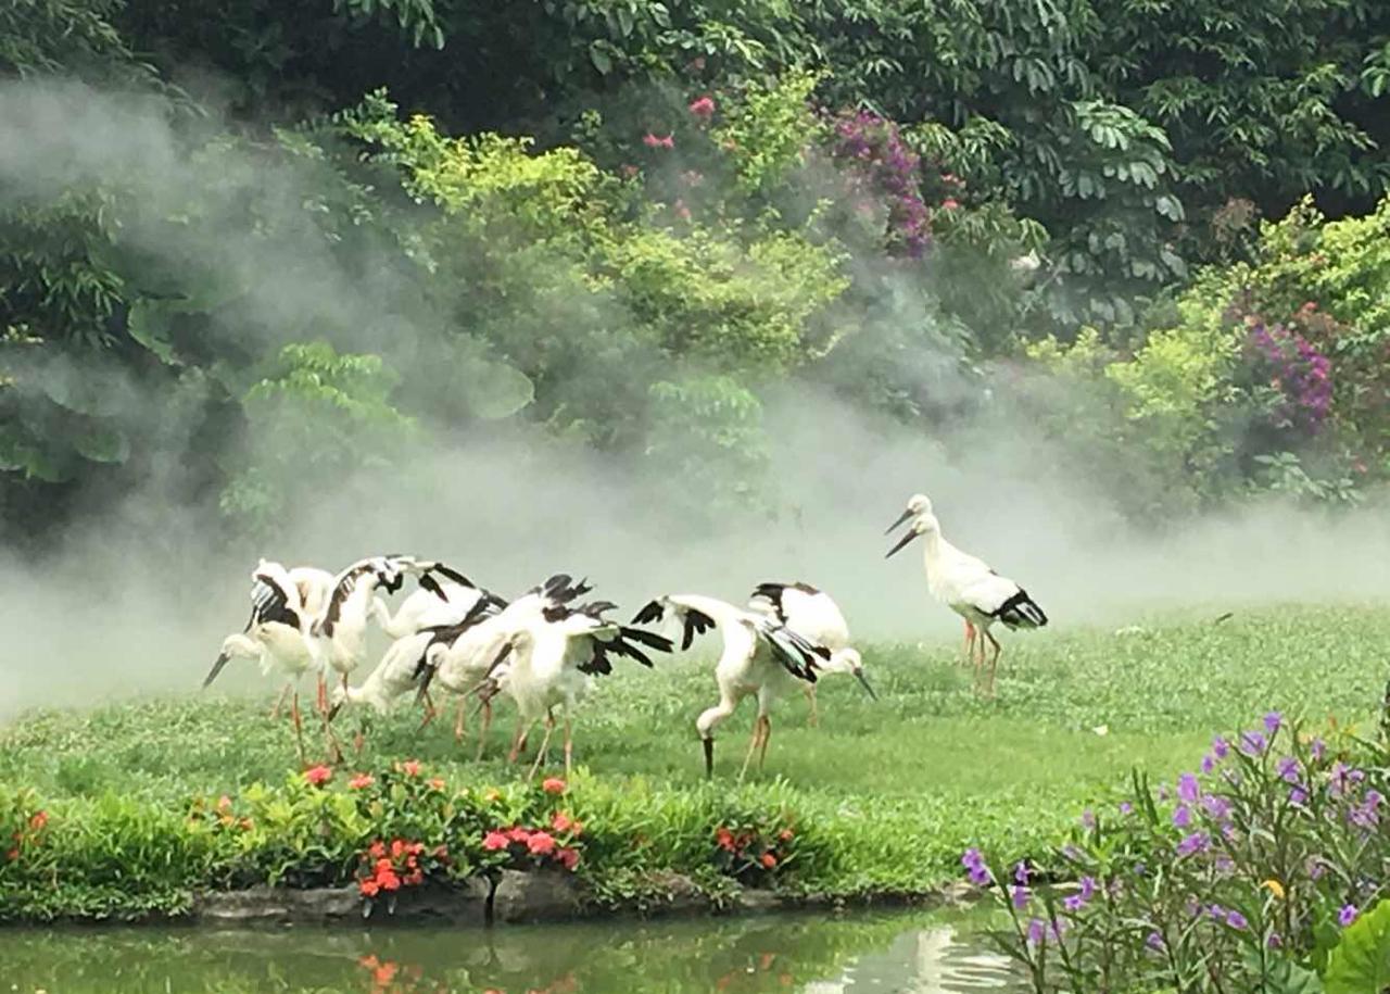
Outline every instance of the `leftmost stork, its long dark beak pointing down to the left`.
<svg viewBox="0 0 1390 994">
<path fill-rule="evenodd" d="M 307 567 L 306 567 L 307 569 Z M 304 762 L 304 727 L 299 713 L 299 680 L 316 669 L 316 656 L 309 638 L 310 619 L 300 599 L 302 589 L 279 563 L 261 559 L 252 573 L 252 614 L 246 627 L 222 641 L 222 649 L 213 669 L 203 680 L 208 687 L 232 659 L 257 659 L 261 673 L 274 671 L 286 678 L 285 691 L 292 694 L 291 716 L 295 723 L 295 744 L 299 762 Z M 281 699 L 285 696 L 281 692 Z M 272 716 L 279 713 L 277 702 Z M 325 735 L 331 738 L 327 722 Z"/>
</svg>

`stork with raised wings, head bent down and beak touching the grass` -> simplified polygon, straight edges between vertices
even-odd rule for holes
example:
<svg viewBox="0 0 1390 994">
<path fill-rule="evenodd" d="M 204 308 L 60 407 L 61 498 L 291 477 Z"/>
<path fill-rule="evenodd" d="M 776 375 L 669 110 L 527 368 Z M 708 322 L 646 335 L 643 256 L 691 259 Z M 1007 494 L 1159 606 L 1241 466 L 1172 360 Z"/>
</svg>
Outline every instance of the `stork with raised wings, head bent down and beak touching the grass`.
<svg viewBox="0 0 1390 994">
<path fill-rule="evenodd" d="M 632 619 L 634 624 L 652 621 L 678 621 L 682 627 L 681 649 L 688 649 L 695 635 L 719 628 L 724 639 L 724 651 L 714 666 L 719 703 L 695 720 L 695 730 L 705 747 L 705 776 L 708 779 L 714 774 L 714 728 L 749 694 L 758 695 L 758 717 L 738 777 L 744 777 L 753 752 L 759 749 L 760 769 L 773 734 L 769 717 L 773 701 L 798 683 L 816 683 L 816 669 L 830 659 L 830 649 L 808 642 L 770 614 L 742 610 L 699 594 L 656 598 Z"/>
</svg>

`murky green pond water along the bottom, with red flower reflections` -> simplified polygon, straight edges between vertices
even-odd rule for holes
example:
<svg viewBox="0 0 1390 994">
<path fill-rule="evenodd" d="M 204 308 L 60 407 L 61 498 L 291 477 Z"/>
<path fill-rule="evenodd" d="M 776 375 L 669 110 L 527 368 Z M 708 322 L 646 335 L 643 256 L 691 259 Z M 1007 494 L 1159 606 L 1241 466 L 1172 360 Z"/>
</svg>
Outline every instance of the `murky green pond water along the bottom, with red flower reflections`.
<svg viewBox="0 0 1390 994">
<path fill-rule="evenodd" d="M 976 920 L 780 915 L 492 930 L 0 929 L 19 994 L 1022 991 Z"/>
</svg>

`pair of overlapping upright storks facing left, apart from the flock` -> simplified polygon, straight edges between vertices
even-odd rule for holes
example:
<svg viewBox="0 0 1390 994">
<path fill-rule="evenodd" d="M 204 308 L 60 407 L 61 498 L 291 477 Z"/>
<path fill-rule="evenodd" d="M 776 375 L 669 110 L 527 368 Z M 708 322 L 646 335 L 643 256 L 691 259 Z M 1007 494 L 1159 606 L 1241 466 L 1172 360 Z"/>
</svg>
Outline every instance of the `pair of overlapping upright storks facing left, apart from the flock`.
<svg viewBox="0 0 1390 994">
<path fill-rule="evenodd" d="M 898 544 L 888 549 L 884 559 L 895 555 L 915 538 L 924 539 L 923 562 L 927 567 L 927 588 L 931 596 L 951 608 L 956 614 L 973 624 L 980 633 L 976 639 L 979 652 L 974 660 L 976 671 L 984 669 L 984 641 L 994 646 L 990 659 L 990 674 L 986 692 L 994 695 L 994 671 L 999 665 L 1002 646 L 990 634 L 990 628 L 1002 621 L 1009 630 L 1041 628 L 1047 614 L 1029 596 L 1027 591 L 1012 580 L 1001 577 L 983 560 L 966 555 L 941 537 L 941 523 L 931 513 L 931 502 L 916 495 L 908 506 L 908 514 L 894 523 L 894 528 L 910 517 L 912 524 Z M 916 510 L 913 510 L 916 505 Z M 892 531 L 892 528 L 890 528 Z"/>
</svg>

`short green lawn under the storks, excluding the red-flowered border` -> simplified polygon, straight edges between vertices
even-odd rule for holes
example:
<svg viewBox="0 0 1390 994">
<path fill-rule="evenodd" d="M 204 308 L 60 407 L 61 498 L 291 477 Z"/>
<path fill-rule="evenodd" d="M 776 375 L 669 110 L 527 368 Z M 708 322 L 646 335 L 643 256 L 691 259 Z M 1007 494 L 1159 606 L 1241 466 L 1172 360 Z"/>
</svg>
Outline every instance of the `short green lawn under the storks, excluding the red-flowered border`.
<svg viewBox="0 0 1390 994">
<path fill-rule="evenodd" d="M 837 826 L 849 867 L 838 886 L 931 886 L 956 874 L 963 845 L 1022 852 L 1051 841 L 1087 806 L 1112 802 L 1130 769 L 1170 779 L 1195 765 L 1213 734 L 1258 723 L 1269 709 L 1318 723 L 1372 717 L 1387 676 L 1390 612 L 1269 606 L 1220 624 L 1166 616 L 1122 631 L 1002 638 L 994 701 L 973 694 L 958 644 L 866 646 L 880 699 L 847 677 L 827 678 L 816 728 L 799 695 L 783 701 L 767 766 L 742 788 L 734 777 L 753 702 L 721 730 L 716 780 L 706 785 L 694 720 L 714 701 L 712 660 L 677 656 L 655 671 L 620 660 L 577 717 L 575 762 L 606 798 L 598 808 L 771 797 Z M 189 660 L 190 684 L 203 669 L 206 660 Z M 254 701 L 188 694 L 24 716 L 0 731 L 0 781 L 60 804 L 115 792 L 171 808 L 195 794 L 279 783 L 295 753 L 288 722 L 268 720 L 270 691 Z M 341 734 L 350 738 L 359 720 L 345 710 Z M 464 783 L 524 774 L 500 762 L 512 724 L 505 705 L 481 765 L 471 742 L 455 745 L 448 720 L 418 731 L 406 701 L 368 724 L 349 767 L 418 758 Z M 1097 734 L 1101 726 L 1106 734 Z M 313 726 L 306 731 L 317 745 Z"/>
</svg>

